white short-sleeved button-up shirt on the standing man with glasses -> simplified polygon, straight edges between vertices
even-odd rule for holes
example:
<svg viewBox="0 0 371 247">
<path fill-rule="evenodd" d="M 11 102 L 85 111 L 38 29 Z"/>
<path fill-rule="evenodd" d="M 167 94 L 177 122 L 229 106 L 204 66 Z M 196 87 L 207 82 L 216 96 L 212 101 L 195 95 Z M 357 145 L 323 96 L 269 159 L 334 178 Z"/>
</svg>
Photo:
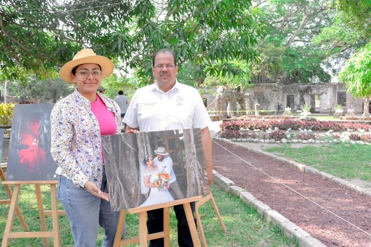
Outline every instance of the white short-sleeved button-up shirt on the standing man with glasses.
<svg viewBox="0 0 371 247">
<path fill-rule="evenodd" d="M 133 95 L 124 122 L 139 131 L 205 128 L 210 117 L 197 89 L 175 82 L 163 92 L 157 83 L 139 88 Z"/>
</svg>

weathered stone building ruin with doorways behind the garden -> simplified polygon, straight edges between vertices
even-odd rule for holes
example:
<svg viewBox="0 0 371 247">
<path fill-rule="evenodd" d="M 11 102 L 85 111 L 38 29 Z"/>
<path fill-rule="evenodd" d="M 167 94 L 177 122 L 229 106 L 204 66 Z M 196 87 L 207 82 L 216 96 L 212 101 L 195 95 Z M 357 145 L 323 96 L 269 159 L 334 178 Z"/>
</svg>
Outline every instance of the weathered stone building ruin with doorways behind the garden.
<svg viewBox="0 0 371 247">
<path fill-rule="evenodd" d="M 201 96 L 208 102 L 208 110 L 222 119 L 251 114 L 257 104 L 261 110 L 271 110 L 272 115 L 282 114 L 286 107 L 293 113 L 300 112 L 304 104 L 312 106 L 312 113 L 333 114 L 337 105 L 343 106 L 344 113 L 349 109 L 363 113 L 362 98 L 353 98 L 343 83 L 257 83 L 243 90 L 219 86 L 215 97 Z"/>
</svg>

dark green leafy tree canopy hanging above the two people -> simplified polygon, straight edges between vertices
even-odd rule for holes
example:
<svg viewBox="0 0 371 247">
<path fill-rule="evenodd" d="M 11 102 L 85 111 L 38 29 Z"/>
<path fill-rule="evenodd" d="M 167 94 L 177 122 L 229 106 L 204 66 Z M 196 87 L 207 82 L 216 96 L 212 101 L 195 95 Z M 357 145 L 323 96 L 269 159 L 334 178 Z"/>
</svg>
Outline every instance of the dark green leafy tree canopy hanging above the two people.
<svg viewBox="0 0 371 247">
<path fill-rule="evenodd" d="M 252 28 L 249 0 L 150 1 L 0 0 L 3 79 L 27 73 L 50 77 L 82 47 L 91 47 L 150 76 L 151 55 L 174 49 L 180 62 L 240 73 L 229 61 L 255 57 L 259 33 Z M 55 74 L 54 74 L 55 75 Z"/>
</svg>

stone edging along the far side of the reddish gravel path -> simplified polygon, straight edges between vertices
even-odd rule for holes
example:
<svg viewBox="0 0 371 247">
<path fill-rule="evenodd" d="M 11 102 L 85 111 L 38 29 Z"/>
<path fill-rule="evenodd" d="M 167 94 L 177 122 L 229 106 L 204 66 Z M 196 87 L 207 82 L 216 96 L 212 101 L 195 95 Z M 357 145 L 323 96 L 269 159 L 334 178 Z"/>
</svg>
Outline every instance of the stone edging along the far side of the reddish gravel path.
<svg viewBox="0 0 371 247">
<path fill-rule="evenodd" d="M 217 139 L 217 140 L 219 139 L 219 140 L 227 141 L 229 143 L 238 145 L 238 146 L 240 146 L 242 148 L 248 149 L 247 147 L 245 147 L 245 146 L 243 146 L 243 145 L 241 145 L 239 143 L 232 142 L 232 141 L 230 141 L 228 139 L 225 139 L 225 138 L 216 137 L 214 139 Z M 248 150 L 251 150 L 251 149 L 248 149 Z M 333 176 L 331 174 L 328 174 L 328 173 L 326 173 L 324 171 L 319 171 L 318 169 L 316 169 L 316 168 L 314 168 L 314 167 L 312 167 L 310 165 L 304 165 L 304 164 L 301 164 L 301 163 L 298 163 L 298 162 L 295 162 L 295 161 L 291 161 L 291 160 L 288 160 L 286 158 L 281 158 L 281 157 L 278 157 L 278 156 L 276 156 L 274 154 L 267 153 L 267 152 L 260 151 L 260 150 L 252 150 L 252 151 L 253 152 L 258 152 L 258 153 L 264 154 L 264 155 L 269 156 L 271 158 L 274 158 L 274 159 L 276 159 L 278 161 L 285 162 L 285 163 L 287 163 L 289 165 L 292 165 L 293 167 L 298 168 L 301 171 L 310 172 L 310 173 L 312 173 L 314 175 L 317 175 L 317 176 L 326 178 L 328 180 L 334 181 L 334 182 L 336 182 L 338 184 L 341 184 L 341 185 L 343 185 L 343 186 L 345 186 L 345 187 L 347 187 L 349 189 L 352 189 L 352 190 L 355 190 L 357 192 L 360 192 L 363 195 L 371 196 L 371 191 L 364 190 L 363 188 L 361 188 L 361 187 L 359 187 L 357 185 L 354 185 L 354 184 L 352 184 L 352 183 L 350 183 L 350 182 L 348 182 L 348 181 L 346 181 L 344 179 L 335 177 L 335 176 Z"/>
</svg>

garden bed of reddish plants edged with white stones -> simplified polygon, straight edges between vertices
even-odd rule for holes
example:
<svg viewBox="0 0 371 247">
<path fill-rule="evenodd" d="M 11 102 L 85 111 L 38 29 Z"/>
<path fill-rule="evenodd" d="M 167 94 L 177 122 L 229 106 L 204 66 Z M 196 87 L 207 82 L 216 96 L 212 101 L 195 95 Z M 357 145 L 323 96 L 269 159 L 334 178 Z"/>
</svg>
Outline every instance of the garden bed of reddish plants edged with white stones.
<svg viewBox="0 0 371 247">
<path fill-rule="evenodd" d="M 220 128 L 220 137 L 232 141 L 371 144 L 371 123 L 366 122 L 236 120 Z"/>
</svg>

